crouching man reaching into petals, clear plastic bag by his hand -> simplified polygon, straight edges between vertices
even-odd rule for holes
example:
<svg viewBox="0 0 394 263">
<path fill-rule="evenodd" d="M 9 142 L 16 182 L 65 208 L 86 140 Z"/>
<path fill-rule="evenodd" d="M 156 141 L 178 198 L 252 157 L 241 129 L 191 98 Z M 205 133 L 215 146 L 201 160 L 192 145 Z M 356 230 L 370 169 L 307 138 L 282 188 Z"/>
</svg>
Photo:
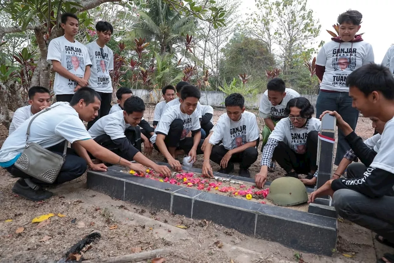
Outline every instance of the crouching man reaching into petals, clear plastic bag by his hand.
<svg viewBox="0 0 394 263">
<path fill-rule="evenodd" d="M 199 99 L 199 88 L 192 85 L 184 86 L 180 105 L 165 109 L 154 130 L 155 134 L 151 137 L 155 149 L 160 151 L 169 165 L 177 171 L 182 169 L 180 162 L 175 159 L 177 148 L 188 153 L 188 156 L 191 157 L 190 162 L 195 162 L 197 154 L 203 154 L 200 120 L 196 113 Z M 190 131 L 193 137 L 186 137 Z"/>
</svg>

